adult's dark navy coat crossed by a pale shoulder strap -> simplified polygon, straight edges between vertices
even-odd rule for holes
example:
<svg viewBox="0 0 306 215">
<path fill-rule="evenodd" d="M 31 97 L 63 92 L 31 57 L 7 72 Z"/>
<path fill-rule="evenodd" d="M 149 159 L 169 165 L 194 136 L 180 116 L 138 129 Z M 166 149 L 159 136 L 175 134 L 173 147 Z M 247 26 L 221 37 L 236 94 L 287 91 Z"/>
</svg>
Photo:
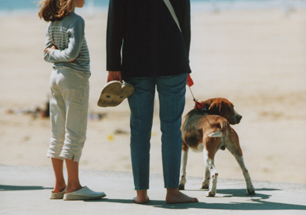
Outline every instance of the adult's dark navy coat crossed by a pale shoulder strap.
<svg viewBox="0 0 306 215">
<path fill-rule="evenodd" d="M 110 0 L 107 71 L 130 77 L 190 73 L 190 0 L 170 0 L 177 27 L 163 0 Z"/>
</svg>

